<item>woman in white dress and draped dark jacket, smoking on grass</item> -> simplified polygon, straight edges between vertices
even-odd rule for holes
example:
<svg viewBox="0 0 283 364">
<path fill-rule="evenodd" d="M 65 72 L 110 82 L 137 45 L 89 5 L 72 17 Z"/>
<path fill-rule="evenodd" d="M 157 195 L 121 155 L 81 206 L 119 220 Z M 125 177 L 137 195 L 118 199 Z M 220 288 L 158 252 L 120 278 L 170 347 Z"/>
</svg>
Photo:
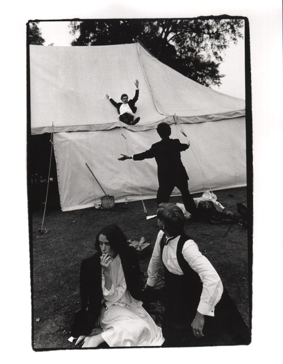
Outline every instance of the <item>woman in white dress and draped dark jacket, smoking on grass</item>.
<svg viewBox="0 0 283 364">
<path fill-rule="evenodd" d="M 83 348 L 106 342 L 110 347 L 160 346 L 164 342 L 140 301 L 140 269 L 136 250 L 116 225 L 107 225 L 96 236 L 98 251 L 82 261 L 81 310 L 72 336 L 84 340 Z"/>
</svg>

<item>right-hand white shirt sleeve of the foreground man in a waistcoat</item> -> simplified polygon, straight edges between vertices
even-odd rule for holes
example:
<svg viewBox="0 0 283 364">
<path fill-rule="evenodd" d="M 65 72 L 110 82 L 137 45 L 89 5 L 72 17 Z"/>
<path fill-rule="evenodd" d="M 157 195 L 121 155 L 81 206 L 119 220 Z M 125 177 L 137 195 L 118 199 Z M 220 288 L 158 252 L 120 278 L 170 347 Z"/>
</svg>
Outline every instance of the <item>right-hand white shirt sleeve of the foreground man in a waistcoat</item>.
<svg viewBox="0 0 283 364">
<path fill-rule="evenodd" d="M 219 302 L 223 285 L 210 261 L 200 253 L 198 245 L 193 240 L 185 242 L 182 253 L 188 264 L 199 274 L 203 282 L 198 312 L 207 316 L 214 316 L 214 309 Z"/>
</svg>

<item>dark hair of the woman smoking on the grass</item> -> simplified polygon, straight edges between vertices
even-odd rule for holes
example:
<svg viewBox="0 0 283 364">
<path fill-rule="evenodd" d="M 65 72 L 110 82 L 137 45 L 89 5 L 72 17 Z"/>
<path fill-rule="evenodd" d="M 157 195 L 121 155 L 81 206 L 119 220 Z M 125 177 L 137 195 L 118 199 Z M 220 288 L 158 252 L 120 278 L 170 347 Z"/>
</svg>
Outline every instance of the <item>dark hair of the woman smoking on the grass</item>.
<svg viewBox="0 0 283 364">
<path fill-rule="evenodd" d="M 99 236 L 103 234 L 106 236 L 107 240 L 109 241 L 109 245 L 111 249 L 114 250 L 116 254 L 124 253 L 128 244 L 127 244 L 127 237 L 122 232 L 119 226 L 115 224 L 106 225 L 104 226 L 99 233 L 96 235 L 95 240 L 95 249 L 100 252 L 100 245 L 99 245 Z"/>
</svg>

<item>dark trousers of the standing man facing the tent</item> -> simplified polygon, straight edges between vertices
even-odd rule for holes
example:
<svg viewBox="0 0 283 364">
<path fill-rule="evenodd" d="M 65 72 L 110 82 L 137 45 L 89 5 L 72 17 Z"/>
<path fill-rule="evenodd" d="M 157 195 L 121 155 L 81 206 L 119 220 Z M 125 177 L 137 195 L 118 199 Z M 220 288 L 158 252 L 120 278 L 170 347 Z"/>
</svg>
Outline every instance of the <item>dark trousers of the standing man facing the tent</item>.
<svg viewBox="0 0 283 364">
<path fill-rule="evenodd" d="M 157 191 L 157 204 L 162 202 L 168 202 L 174 187 L 177 187 L 180 193 L 182 194 L 183 203 L 185 209 L 192 214 L 192 217 L 196 217 L 198 210 L 196 208 L 194 198 L 190 194 L 188 190 L 188 181 L 186 179 L 182 181 L 173 181 L 173 182 L 161 182 L 159 183 L 159 189 Z"/>
</svg>

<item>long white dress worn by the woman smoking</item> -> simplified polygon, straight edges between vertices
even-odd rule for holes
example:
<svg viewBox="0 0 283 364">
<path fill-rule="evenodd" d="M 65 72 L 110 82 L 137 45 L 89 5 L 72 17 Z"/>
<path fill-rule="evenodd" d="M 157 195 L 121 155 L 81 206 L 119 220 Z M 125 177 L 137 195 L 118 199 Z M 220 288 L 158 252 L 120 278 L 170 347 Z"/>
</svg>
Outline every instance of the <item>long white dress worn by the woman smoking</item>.
<svg viewBox="0 0 283 364">
<path fill-rule="evenodd" d="M 104 312 L 101 336 L 110 347 L 160 346 L 164 342 L 161 328 L 142 307 L 143 302 L 131 296 L 127 290 L 119 254 L 109 265 L 112 287 L 104 287 L 102 293 L 107 300 L 108 310 Z"/>
</svg>

